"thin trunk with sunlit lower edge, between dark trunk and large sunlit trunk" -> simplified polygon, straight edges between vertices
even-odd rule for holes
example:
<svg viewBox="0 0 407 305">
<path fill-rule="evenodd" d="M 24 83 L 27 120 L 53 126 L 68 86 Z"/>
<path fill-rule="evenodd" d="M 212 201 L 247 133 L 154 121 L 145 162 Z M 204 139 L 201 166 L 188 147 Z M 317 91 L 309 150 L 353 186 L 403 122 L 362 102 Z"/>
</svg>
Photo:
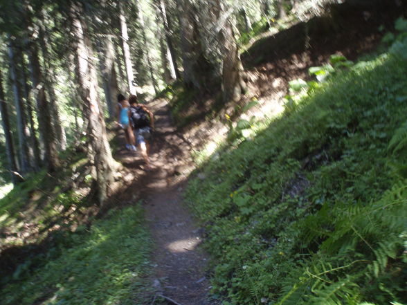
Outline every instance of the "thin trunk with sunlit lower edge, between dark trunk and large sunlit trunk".
<svg viewBox="0 0 407 305">
<path fill-rule="evenodd" d="M 57 96 L 55 95 L 55 89 L 51 80 L 55 80 L 55 75 L 53 73 L 53 66 L 51 66 L 51 59 L 48 53 L 48 39 L 46 37 L 46 30 L 44 24 L 39 23 L 39 42 L 42 49 L 42 57 L 44 60 L 44 80 L 46 84 L 46 91 L 48 91 L 49 105 L 51 107 L 51 118 L 52 125 L 55 129 L 55 136 L 57 138 L 59 148 L 62 150 L 66 149 L 66 134 L 62 127 L 62 122 L 60 120 L 60 111 L 57 107 Z"/>
</svg>

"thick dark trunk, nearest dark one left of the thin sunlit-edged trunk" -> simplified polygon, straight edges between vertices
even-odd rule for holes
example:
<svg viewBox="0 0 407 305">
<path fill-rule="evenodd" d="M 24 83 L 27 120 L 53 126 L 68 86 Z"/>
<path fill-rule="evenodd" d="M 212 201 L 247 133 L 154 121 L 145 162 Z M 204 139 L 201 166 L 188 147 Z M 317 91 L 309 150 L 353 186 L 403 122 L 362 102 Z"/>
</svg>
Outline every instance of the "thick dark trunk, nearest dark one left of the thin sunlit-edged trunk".
<svg viewBox="0 0 407 305">
<path fill-rule="evenodd" d="M 33 39 L 28 44 L 28 57 L 31 80 L 33 82 L 33 93 L 37 102 L 39 135 L 44 143 L 44 160 L 48 171 L 54 172 L 60 167 L 60 160 L 57 152 L 57 141 L 51 123 L 51 109 L 48 100 L 46 100 L 42 71 L 39 65 L 37 44 L 35 44 Z"/>
</svg>

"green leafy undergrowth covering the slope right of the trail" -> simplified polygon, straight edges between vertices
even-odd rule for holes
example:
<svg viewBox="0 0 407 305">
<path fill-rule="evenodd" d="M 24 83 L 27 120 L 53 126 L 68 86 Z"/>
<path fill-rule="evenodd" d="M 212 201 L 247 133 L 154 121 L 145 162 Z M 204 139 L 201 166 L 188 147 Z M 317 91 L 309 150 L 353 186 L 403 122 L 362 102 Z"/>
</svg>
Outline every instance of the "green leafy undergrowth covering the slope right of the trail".
<svg viewBox="0 0 407 305">
<path fill-rule="evenodd" d="M 347 63 L 202 165 L 186 200 L 223 304 L 407 303 L 405 54 Z"/>
</svg>

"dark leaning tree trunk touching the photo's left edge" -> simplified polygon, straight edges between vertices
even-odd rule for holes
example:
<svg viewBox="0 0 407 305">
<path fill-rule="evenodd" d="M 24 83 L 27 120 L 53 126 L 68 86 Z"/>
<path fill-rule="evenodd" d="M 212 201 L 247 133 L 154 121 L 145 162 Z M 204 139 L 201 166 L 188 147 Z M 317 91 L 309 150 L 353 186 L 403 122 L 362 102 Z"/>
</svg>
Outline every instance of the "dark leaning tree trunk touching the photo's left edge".
<svg viewBox="0 0 407 305">
<path fill-rule="evenodd" d="M 8 120 L 7 103 L 4 99 L 3 91 L 3 75 L 0 71 L 0 113 L 1 122 L 3 123 L 4 138 L 6 138 L 6 154 L 8 158 L 8 166 L 10 168 L 11 181 L 14 185 L 21 181 L 21 176 L 18 174 L 17 164 L 15 163 L 15 150 L 12 143 L 10 131 L 10 121 Z"/>
</svg>

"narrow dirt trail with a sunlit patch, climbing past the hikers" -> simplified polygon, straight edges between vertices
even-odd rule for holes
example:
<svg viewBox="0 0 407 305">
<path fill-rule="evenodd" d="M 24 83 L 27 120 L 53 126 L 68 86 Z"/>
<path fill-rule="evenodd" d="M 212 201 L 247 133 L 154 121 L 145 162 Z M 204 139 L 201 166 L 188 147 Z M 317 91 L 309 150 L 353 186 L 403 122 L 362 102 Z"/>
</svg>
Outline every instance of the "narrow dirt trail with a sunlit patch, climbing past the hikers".
<svg viewBox="0 0 407 305">
<path fill-rule="evenodd" d="M 136 176 L 120 200 L 143 201 L 146 224 L 154 239 L 150 283 L 155 295 L 165 295 L 182 305 L 206 305 L 208 259 L 199 247 L 199 228 L 181 198 L 192 166 L 190 145 L 172 126 L 165 100 L 154 100 L 147 107 L 156 120 L 150 152 L 153 168 L 144 171 L 141 154 L 120 149 L 116 159 Z M 122 131 L 120 145 L 124 146 Z M 154 293 L 150 302 L 153 299 Z"/>
</svg>

